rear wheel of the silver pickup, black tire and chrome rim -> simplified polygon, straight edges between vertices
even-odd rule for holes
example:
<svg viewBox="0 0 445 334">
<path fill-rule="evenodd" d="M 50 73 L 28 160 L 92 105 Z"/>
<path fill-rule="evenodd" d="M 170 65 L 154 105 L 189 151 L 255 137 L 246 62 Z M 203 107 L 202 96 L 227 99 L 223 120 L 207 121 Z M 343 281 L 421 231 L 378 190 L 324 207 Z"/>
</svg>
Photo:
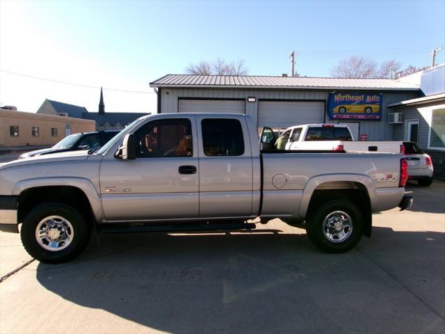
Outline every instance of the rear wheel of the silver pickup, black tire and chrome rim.
<svg viewBox="0 0 445 334">
<path fill-rule="evenodd" d="M 363 225 L 362 213 L 354 202 L 336 199 L 311 209 L 306 232 L 324 252 L 345 253 L 362 238 Z"/>
</svg>

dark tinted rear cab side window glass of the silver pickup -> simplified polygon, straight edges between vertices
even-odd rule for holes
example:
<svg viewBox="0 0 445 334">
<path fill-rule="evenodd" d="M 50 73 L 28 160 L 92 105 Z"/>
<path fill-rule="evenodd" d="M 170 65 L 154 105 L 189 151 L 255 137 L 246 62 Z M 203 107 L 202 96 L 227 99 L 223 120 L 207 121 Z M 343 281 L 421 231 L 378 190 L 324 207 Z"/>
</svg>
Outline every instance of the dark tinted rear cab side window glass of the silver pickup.
<svg viewBox="0 0 445 334">
<path fill-rule="evenodd" d="M 207 157 L 234 157 L 244 154 L 243 129 L 239 120 L 202 120 L 202 141 Z"/>
</svg>

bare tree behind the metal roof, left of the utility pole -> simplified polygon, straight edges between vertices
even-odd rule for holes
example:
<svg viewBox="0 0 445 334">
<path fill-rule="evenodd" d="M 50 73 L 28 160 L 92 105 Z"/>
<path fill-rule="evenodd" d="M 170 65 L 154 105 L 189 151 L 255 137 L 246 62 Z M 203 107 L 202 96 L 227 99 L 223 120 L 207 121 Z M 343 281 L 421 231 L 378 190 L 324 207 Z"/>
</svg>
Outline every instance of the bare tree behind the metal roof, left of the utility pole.
<svg viewBox="0 0 445 334">
<path fill-rule="evenodd" d="M 187 74 L 198 75 L 245 75 L 249 70 L 245 66 L 244 60 L 241 59 L 237 62 L 227 61 L 217 58 L 216 61 L 209 63 L 208 61 L 200 61 L 199 63 L 191 63 L 186 68 Z"/>
</svg>

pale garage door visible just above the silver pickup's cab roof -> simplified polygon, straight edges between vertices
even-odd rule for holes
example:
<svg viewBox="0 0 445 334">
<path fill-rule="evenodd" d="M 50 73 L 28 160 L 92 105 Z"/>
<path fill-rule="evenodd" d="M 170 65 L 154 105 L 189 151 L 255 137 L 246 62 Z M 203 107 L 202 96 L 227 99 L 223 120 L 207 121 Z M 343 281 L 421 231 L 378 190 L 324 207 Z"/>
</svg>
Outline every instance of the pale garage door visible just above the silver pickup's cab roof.
<svg viewBox="0 0 445 334">
<path fill-rule="evenodd" d="M 179 113 L 244 113 L 244 110 L 244 100 L 179 100 Z"/>
</svg>

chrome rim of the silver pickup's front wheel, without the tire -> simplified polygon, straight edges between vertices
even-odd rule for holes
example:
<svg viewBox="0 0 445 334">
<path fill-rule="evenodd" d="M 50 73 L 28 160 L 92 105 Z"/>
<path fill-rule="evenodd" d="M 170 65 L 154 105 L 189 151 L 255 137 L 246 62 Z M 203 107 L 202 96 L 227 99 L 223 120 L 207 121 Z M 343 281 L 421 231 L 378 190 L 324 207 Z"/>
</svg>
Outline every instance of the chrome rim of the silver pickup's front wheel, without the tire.
<svg viewBox="0 0 445 334">
<path fill-rule="evenodd" d="M 56 252 L 70 246 L 74 230 L 70 221 L 62 216 L 43 218 L 35 228 L 35 240 L 46 249 Z"/>
</svg>

